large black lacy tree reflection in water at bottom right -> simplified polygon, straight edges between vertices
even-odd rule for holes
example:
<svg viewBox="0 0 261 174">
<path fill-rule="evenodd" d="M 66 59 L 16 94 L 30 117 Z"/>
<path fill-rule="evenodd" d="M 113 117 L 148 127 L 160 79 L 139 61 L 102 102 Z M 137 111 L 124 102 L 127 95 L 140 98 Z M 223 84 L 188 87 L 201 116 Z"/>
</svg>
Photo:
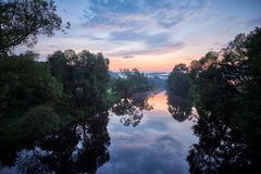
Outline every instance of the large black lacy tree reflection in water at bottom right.
<svg viewBox="0 0 261 174">
<path fill-rule="evenodd" d="M 236 130 L 211 112 L 198 110 L 199 120 L 194 126 L 199 142 L 192 145 L 187 160 L 191 173 L 247 173 L 247 147 Z"/>
</svg>

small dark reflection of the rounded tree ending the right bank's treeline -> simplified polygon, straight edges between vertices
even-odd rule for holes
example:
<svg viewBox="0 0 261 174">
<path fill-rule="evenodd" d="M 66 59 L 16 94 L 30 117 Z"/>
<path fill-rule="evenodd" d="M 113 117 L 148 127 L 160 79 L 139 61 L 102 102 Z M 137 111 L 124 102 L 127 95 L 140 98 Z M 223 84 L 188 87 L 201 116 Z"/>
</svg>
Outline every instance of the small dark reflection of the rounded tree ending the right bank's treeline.
<svg viewBox="0 0 261 174">
<path fill-rule="evenodd" d="M 167 107 L 173 119 L 178 122 L 184 122 L 191 115 L 191 99 L 169 95 Z"/>
</svg>

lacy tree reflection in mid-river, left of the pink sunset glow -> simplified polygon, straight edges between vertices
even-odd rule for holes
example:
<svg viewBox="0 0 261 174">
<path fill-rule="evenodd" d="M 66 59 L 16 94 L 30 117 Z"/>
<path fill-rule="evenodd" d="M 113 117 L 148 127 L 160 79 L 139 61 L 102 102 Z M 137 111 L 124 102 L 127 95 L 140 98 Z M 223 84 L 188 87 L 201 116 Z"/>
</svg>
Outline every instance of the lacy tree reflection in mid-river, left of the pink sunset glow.
<svg viewBox="0 0 261 174">
<path fill-rule="evenodd" d="M 144 110 L 152 110 L 148 103 L 150 95 L 148 92 L 134 95 L 130 98 L 122 99 L 117 104 L 112 107 L 112 112 L 121 116 L 121 123 L 124 126 L 137 126 L 144 117 Z"/>
</svg>

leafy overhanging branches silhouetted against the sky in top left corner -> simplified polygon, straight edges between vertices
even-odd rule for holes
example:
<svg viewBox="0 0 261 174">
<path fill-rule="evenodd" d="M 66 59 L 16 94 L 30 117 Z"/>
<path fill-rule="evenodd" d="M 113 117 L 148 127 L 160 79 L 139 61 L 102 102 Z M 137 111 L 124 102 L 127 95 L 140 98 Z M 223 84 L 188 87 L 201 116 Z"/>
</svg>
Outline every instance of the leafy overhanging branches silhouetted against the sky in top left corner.
<svg viewBox="0 0 261 174">
<path fill-rule="evenodd" d="M 1 54 L 17 45 L 34 46 L 38 35 L 49 37 L 54 30 L 60 30 L 62 20 L 55 12 L 53 0 L 1 0 Z"/>
</svg>

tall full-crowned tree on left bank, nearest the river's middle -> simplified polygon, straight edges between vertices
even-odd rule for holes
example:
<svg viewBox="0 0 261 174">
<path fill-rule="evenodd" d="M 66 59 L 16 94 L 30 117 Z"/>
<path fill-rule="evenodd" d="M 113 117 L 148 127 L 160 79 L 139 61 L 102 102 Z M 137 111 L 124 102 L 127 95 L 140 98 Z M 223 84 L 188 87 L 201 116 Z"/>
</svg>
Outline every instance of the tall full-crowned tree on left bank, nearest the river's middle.
<svg viewBox="0 0 261 174">
<path fill-rule="evenodd" d="M 101 53 L 57 51 L 48 58 L 52 75 L 63 85 L 69 107 L 83 109 L 99 104 L 109 80 L 109 60 Z"/>
</svg>

